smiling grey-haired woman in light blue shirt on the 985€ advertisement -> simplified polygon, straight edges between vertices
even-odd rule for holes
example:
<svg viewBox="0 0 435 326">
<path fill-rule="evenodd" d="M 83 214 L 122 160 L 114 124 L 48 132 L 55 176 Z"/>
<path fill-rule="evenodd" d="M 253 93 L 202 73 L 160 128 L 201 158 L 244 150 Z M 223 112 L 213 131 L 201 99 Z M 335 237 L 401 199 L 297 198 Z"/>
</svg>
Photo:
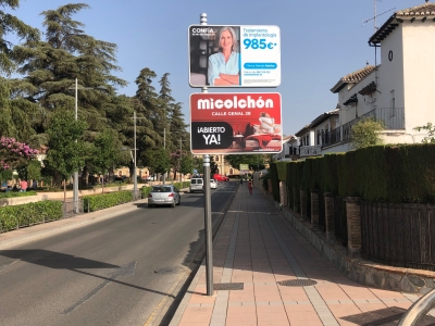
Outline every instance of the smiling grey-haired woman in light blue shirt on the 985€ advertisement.
<svg viewBox="0 0 435 326">
<path fill-rule="evenodd" d="M 209 85 L 226 86 L 239 85 L 239 53 L 237 52 L 237 37 L 233 27 L 224 26 L 216 35 L 217 53 L 209 57 Z"/>
</svg>

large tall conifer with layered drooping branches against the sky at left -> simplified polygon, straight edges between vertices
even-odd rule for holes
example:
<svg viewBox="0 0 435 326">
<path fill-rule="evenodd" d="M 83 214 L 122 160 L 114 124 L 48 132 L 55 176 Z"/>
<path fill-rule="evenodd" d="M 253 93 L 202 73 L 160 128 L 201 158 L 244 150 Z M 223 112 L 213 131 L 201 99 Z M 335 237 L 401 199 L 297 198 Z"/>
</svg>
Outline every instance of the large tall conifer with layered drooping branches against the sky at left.
<svg viewBox="0 0 435 326">
<path fill-rule="evenodd" d="M 18 73 L 25 77 L 16 84 L 16 93 L 28 102 L 37 103 L 40 118 L 34 123 L 38 135 L 44 135 L 50 114 L 58 108 L 74 108 L 75 95 L 71 89 L 75 79 L 78 87 L 104 86 L 107 92 L 95 89 L 78 91 L 78 118 L 87 122 L 85 137 L 94 141 L 96 131 L 108 127 L 105 103 L 114 87 L 126 82 L 112 75 L 115 65 L 116 45 L 87 35 L 83 23 L 72 15 L 85 3 L 65 4 L 57 10 L 44 11 L 45 41 L 27 41 L 13 50 Z M 41 138 L 44 139 L 44 137 Z"/>
</svg>

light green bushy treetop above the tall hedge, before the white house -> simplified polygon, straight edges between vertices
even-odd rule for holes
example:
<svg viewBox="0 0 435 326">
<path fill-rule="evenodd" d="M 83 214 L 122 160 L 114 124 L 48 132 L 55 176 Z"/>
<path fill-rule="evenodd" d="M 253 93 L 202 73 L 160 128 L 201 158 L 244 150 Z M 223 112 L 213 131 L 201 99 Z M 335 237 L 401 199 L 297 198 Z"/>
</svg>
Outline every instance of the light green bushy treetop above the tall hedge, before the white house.
<svg viewBox="0 0 435 326">
<path fill-rule="evenodd" d="M 384 123 L 373 117 L 362 118 L 350 129 L 350 147 L 360 149 L 383 142 L 380 131 L 384 129 Z"/>
</svg>

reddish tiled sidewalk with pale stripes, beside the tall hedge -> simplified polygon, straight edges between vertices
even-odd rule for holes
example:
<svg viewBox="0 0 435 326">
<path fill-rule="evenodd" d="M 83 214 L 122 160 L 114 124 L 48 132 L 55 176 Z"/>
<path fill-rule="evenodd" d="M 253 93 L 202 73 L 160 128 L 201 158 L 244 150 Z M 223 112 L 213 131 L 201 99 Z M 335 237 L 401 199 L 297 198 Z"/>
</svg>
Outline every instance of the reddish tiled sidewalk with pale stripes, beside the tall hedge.
<svg viewBox="0 0 435 326">
<path fill-rule="evenodd" d="M 259 191 L 238 189 L 213 241 L 214 285 L 243 289 L 208 297 L 203 262 L 171 326 L 396 325 L 419 298 L 346 278 Z"/>
</svg>

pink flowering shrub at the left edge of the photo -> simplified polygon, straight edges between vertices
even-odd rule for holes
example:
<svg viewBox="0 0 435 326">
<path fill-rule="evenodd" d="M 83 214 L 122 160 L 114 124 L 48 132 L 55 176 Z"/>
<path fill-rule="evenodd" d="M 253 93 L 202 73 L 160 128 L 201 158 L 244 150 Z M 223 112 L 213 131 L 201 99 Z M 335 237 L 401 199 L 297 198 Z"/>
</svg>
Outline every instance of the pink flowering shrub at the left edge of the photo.
<svg viewBox="0 0 435 326">
<path fill-rule="evenodd" d="M 38 154 L 38 150 L 15 138 L 0 137 L 0 170 L 14 168 L 36 154 Z"/>
</svg>

